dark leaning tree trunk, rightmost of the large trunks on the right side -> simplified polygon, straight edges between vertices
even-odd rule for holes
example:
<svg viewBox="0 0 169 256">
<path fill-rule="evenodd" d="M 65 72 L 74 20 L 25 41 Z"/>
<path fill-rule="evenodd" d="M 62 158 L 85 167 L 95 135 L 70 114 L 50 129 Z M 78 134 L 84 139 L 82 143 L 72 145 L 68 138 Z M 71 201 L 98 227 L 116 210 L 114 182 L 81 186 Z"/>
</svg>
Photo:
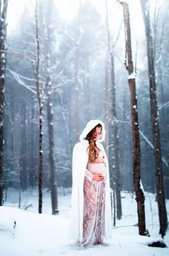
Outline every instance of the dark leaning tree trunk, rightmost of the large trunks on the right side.
<svg viewBox="0 0 169 256">
<path fill-rule="evenodd" d="M 158 118 L 158 100 L 155 81 L 155 55 L 153 49 L 153 37 L 150 29 L 150 2 L 149 0 L 140 0 L 142 6 L 143 19 L 145 23 L 145 35 L 148 54 L 148 75 L 150 84 L 150 114 L 153 129 L 153 143 L 155 155 L 155 186 L 158 200 L 158 214 L 160 221 L 160 234 L 164 237 L 168 227 L 167 211 L 165 206 L 165 192 L 163 184 L 163 167 L 161 160 L 160 146 L 160 125 Z"/>
</svg>

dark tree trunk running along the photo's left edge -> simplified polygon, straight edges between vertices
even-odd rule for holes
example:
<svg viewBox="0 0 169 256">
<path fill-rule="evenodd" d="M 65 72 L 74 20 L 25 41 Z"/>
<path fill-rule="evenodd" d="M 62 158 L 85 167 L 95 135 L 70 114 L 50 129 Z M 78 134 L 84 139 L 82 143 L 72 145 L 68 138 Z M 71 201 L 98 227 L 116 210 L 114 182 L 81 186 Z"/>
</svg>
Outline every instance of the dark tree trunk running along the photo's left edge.
<svg viewBox="0 0 169 256">
<path fill-rule="evenodd" d="M 6 70 L 6 12 L 8 0 L 0 0 L 0 206 L 3 204 L 4 91 Z"/>
</svg>

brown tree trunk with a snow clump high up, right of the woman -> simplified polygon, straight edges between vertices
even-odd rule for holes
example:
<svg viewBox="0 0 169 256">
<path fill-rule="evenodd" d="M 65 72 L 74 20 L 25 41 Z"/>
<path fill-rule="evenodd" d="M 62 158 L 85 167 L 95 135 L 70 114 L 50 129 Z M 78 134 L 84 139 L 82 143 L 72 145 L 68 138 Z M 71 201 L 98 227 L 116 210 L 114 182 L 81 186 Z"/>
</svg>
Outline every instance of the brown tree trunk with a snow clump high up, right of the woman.
<svg viewBox="0 0 169 256">
<path fill-rule="evenodd" d="M 139 234 L 145 235 L 145 196 L 140 187 L 140 134 L 138 128 L 137 115 L 137 96 L 135 90 L 135 76 L 132 63 L 132 44 L 131 44 L 131 29 L 130 29 L 130 13 L 128 4 L 125 1 L 120 1 L 123 7 L 125 21 L 125 47 L 127 54 L 127 70 L 129 73 L 128 84 L 130 87 L 131 115 L 132 115 L 132 144 L 133 144 L 133 180 L 135 195 L 137 201 L 138 228 Z"/>
</svg>

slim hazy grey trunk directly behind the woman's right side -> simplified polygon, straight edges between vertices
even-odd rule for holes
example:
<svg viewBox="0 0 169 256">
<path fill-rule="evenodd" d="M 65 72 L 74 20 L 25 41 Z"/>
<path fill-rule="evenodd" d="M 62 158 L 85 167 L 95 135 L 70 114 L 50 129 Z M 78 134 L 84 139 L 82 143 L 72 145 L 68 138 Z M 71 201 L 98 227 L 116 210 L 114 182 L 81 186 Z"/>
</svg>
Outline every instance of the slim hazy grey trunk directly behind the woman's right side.
<svg viewBox="0 0 169 256">
<path fill-rule="evenodd" d="M 107 27 L 107 45 L 108 52 L 110 55 L 110 70 L 111 70 L 111 79 L 110 79 L 110 102 L 111 102 L 111 117 L 110 119 L 110 145 L 112 153 L 112 165 L 110 170 L 115 175 L 115 193 L 117 201 L 117 219 L 122 217 L 122 203 L 121 203 L 121 194 L 120 194 L 120 168 L 119 168 L 119 137 L 118 137 L 118 127 L 117 127 L 117 112 L 116 112 L 116 92 L 115 92 L 115 60 L 113 47 L 110 46 L 110 30 L 108 26 L 108 12 L 107 12 L 107 0 L 105 0 L 106 6 L 106 27 Z"/>
</svg>

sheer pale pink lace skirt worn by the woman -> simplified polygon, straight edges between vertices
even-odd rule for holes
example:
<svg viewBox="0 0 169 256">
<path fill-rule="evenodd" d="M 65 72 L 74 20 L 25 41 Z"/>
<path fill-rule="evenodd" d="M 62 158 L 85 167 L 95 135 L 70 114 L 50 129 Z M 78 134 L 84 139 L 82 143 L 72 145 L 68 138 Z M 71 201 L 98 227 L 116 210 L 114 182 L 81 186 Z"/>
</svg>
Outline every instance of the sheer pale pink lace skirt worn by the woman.
<svg viewBox="0 0 169 256">
<path fill-rule="evenodd" d="M 96 168 L 97 170 L 95 170 Z M 92 165 L 92 173 L 100 173 L 100 168 L 100 164 Z M 102 168 L 105 168 L 105 165 L 102 165 Z M 81 243 L 82 247 L 90 247 L 92 244 L 102 244 L 104 236 L 104 222 L 105 180 L 90 181 L 85 177 L 83 239 Z"/>
</svg>

